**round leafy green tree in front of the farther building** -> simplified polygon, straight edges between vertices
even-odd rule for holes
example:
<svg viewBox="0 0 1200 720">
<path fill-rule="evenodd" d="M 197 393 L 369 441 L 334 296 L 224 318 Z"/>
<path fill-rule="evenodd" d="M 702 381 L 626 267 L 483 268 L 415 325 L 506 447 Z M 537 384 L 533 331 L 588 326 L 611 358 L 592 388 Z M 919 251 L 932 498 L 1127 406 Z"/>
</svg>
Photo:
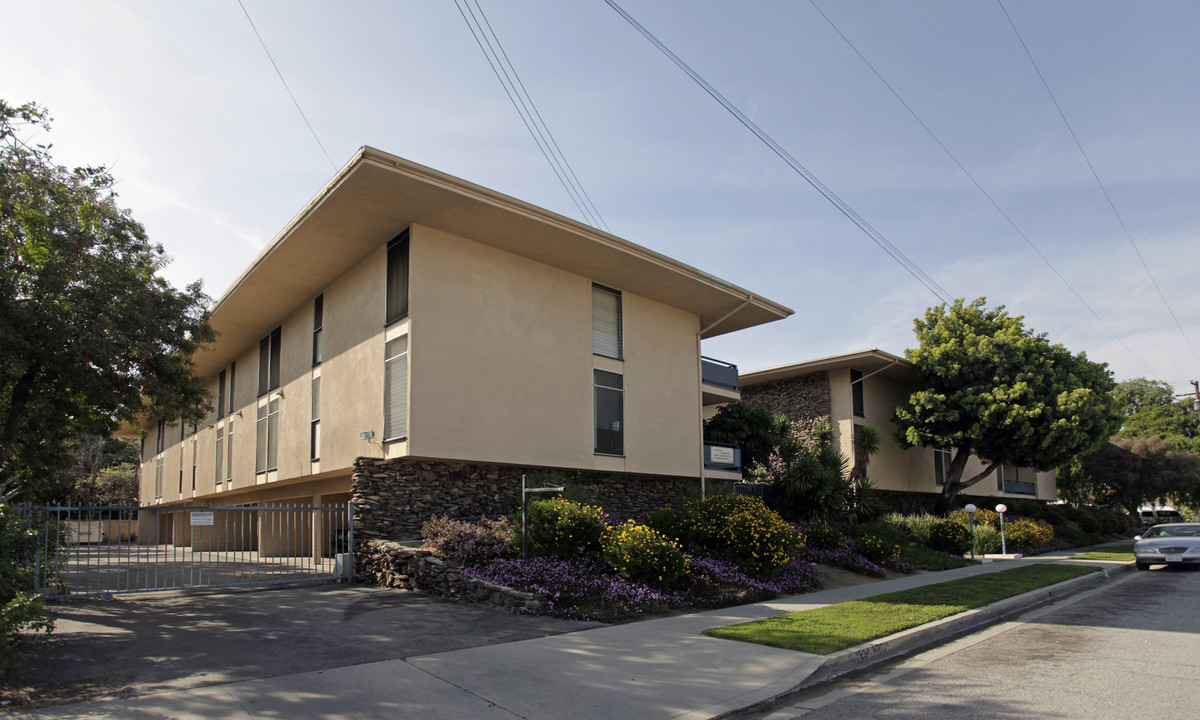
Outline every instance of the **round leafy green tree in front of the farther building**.
<svg viewBox="0 0 1200 720">
<path fill-rule="evenodd" d="M 918 347 L 905 355 L 922 389 L 896 408 L 896 440 L 952 449 L 940 512 L 1001 463 L 1049 470 L 1120 425 L 1108 366 L 1026 329 L 1003 306 L 960 299 L 929 308 L 914 325 Z M 972 455 L 984 468 L 964 476 Z"/>
</svg>

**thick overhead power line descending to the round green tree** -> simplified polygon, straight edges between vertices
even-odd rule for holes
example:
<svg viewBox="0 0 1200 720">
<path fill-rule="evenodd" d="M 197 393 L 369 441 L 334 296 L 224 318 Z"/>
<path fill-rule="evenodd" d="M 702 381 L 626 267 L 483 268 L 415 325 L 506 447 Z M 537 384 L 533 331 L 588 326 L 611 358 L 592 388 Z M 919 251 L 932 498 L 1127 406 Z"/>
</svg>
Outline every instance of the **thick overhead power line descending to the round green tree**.
<svg viewBox="0 0 1200 720">
<path fill-rule="evenodd" d="M 798 175 L 804 178 L 809 185 L 812 186 L 823 198 L 829 200 L 842 215 L 845 215 L 852 223 L 858 226 L 863 233 L 866 234 L 883 252 L 886 252 L 892 259 L 894 259 L 901 268 L 908 271 L 917 282 L 925 286 L 925 288 L 934 294 L 940 301 L 946 304 L 952 304 L 954 301 L 953 296 L 935 281 L 920 266 L 917 265 L 912 259 L 910 259 L 899 247 L 893 245 L 882 233 L 876 230 L 868 223 L 853 208 L 851 208 L 845 200 L 842 200 L 835 192 L 829 190 L 821 180 L 817 179 L 808 168 L 800 164 L 782 145 L 776 143 L 769 134 L 767 134 L 761 127 L 758 127 L 750 118 L 745 115 L 740 109 L 737 108 L 732 102 L 730 102 L 724 95 L 716 91 L 715 88 L 708 84 L 692 70 L 686 62 L 684 62 L 678 55 L 671 52 L 658 37 L 654 36 L 649 30 L 643 28 L 641 23 L 634 19 L 628 12 L 625 12 L 614 0 L 605 0 L 610 7 L 612 7 L 617 14 L 625 18 L 635 30 L 642 34 L 646 40 L 650 41 L 664 55 L 666 55 L 679 70 L 684 71 L 688 77 L 690 77 L 697 85 L 700 85 L 704 92 L 707 92 L 713 100 L 719 102 L 731 115 L 733 115 L 738 122 L 740 122 L 746 130 L 755 134 L 767 148 L 770 149 L 780 160 L 787 163 Z"/>
</svg>

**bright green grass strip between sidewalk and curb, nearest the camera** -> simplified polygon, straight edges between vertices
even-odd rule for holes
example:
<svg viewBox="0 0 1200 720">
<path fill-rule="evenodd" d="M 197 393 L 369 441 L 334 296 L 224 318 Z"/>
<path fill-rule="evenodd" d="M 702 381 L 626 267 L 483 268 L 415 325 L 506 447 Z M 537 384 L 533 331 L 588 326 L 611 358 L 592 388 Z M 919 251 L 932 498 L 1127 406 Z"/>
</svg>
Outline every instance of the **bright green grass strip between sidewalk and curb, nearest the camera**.
<svg viewBox="0 0 1200 720">
<path fill-rule="evenodd" d="M 709 637 L 827 655 L 1052 586 L 1099 568 L 1036 564 L 704 630 Z"/>
</svg>

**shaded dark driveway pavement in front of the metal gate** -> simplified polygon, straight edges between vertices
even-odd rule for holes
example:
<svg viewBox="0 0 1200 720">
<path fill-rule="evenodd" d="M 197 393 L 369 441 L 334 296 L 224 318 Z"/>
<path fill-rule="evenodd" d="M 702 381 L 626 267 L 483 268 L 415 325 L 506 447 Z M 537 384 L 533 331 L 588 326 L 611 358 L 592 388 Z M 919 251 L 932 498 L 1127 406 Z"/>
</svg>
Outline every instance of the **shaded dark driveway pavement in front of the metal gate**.
<svg viewBox="0 0 1200 720">
<path fill-rule="evenodd" d="M 599 626 L 367 586 L 119 595 L 52 604 L 6 678 L 36 696 L 131 697 Z"/>
</svg>

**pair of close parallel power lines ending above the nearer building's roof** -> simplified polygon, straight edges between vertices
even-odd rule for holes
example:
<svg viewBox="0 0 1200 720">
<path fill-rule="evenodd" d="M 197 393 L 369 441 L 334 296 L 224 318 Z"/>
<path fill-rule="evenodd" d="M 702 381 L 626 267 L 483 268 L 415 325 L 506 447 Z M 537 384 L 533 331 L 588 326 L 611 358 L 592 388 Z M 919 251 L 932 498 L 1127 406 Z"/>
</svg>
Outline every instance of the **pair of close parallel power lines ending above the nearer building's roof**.
<svg viewBox="0 0 1200 720">
<path fill-rule="evenodd" d="M 580 182 L 571 164 L 566 161 L 563 150 L 554 140 L 554 136 L 550 132 L 550 127 L 542 119 L 541 113 L 538 112 L 538 106 L 534 104 L 533 98 L 526 90 L 524 83 L 521 82 L 521 77 L 509 60 L 508 53 L 504 52 L 504 46 L 500 44 L 500 38 L 492 29 L 487 16 L 484 14 L 484 8 L 480 7 L 479 0 L 474 0 L 474 2 L 475 6 L 472 8 L 472 0 L 455 0 L 455 7 L 458 8 L 458 13 L 475 38 L 475 43 L 482 50 L 484 58 L 487 59 L 492 72 L 496 73 L 496 78 L 504 88 L 505 95 L 509 96 L 509 102 L 512 103 L 517 114 L 521 115 L 521 121 L 524 122 L 526 130 L 529 131 L 534 143 L 538 144 L 538 149 L 541 150 L 546 162 L 554 170 L 554 175 L 571 197 L 571 202 L 575 203 L 580 214 L 584 216 L 590 226 L 602 227 L 606 232 L 611 233 L 612 230 L 608 229 L 608 226 L 600 216 L 600 211 L 596 210 L 595 204 L 592 203 L 592 198 L 583 190 L 583 185 Z"/>
</svg>

